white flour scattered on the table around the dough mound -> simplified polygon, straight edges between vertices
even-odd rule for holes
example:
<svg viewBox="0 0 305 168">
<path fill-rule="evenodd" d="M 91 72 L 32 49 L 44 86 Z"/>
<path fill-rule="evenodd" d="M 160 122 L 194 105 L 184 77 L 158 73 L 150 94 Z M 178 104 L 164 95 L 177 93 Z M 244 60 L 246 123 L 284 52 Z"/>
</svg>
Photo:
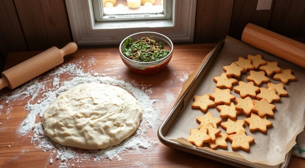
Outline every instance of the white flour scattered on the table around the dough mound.
<svg viewBox="0 0 305 168">
<path fill-rule="evenodd" d="M 94 61 L 95 58 L 91 57 L 89 64 L 95 64 Z M 59 86 L 59 76 L 63 73 L 70 76 L 70 78 L 61 82 L 61 85 Z M 53 164 L 55 160 L 58 160 L 59 167 L 74 166 L 74 164 L 71 165 L 69 162 L 76 162 L 79 164 L 82 162 L 81 160 L 89 161 L 90 157 L 94 158 L 94 162 L 99 162 L 103 158 L 108 158 L 109 160 L 117 158 L 118 160 L 122 160 L 122 157 L 126 156 L 127 154 L 131 154 L 131 152 L 128 152 L 130 149 L 146 149 L 157 144 L 146 135 L 149 128 L 156 130 L 158 123 L 160 122 L 160 110 L 154 108 L 156 99 L 151 100 L 149 97 L 149 94 L 152 94 L 152 89 L 145 85 L 138 85 L 135 81 L 128 83 L 115 78 L 107 77 L 105 74 L 101 74 L 102 76 L 97 74 L 98 73 L 94 71 L 85 73 L 81 66 L 77 64 L 62 65 L 55 68 L 45 76 L 47 79 L 53 81 L 51 85 L 48 84 L 48 81 L 50 80 L 43 81 L 43 77 L 37 77 L 30 82 L 27 82 L 19 89 L 14 90 L 12 93 L 2 95 L 0 98 L 0 100 L 6 99 L 7 101 L 16 99 L 27 100 L 27 104 L 24 109 L 30 112 L 20 123 L 17 132 L 21 136 L 24 136 L 33 130 L 33 135 L 28 136 L 31 138 L 31 143 L 34 144 L 37 149 L 42 149 L 45 152 L 50 151 L 51 154 L 54 153 L 56 155 L 54 155 L 55 157 L 52 158 L 53 154 L 50 154 L 50 164 Z M 82 83 L 92 82 L 120 86 L 135 96 L 143 109 L 143 118 L 135 134 L 117 146 L 102 150 L 90 151 L 62 146 L 50 140 L 47 136 L 45 136 L 41 122 L 36 121 L 36 116 L 39 115 L 42 117 L 43 112 L 49 106 L 49 104 L 51 104 L 56 97 L 62 94 L 64 91 Z M 1 108 L 3 108 L 3 106 L 0 106 L 0 109 Z"/>
</svg>

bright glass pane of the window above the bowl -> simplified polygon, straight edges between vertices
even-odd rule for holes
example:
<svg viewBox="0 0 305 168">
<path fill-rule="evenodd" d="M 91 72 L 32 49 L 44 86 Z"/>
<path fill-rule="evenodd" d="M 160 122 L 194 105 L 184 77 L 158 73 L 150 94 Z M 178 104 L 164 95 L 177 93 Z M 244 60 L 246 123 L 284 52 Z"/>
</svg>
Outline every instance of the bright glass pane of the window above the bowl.
<svg viewBox="0 0 305 168">
<path fill-rule="evenodd" d="M 163 0 L 102 0 L 103 14 L 163 14 Z"/>
</svg>

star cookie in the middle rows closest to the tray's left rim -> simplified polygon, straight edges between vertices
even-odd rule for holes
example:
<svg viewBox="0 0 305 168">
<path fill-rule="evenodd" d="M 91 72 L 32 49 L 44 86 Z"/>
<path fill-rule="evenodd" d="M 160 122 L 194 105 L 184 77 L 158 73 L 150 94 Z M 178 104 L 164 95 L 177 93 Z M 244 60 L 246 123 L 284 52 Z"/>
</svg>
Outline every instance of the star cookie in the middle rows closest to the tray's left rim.
<svg viewBox="0 0 305 168">
<path fill-rule="evenodd" d="M 192 103 L 192 108 L 200 108 L 201 111 L 206 112 L 208 107 L 215 106 L 215 103 L 210 100 L 210 96 L 205 94 L 203 96 L 194 96 L 194 102 Z"/>
</svg>

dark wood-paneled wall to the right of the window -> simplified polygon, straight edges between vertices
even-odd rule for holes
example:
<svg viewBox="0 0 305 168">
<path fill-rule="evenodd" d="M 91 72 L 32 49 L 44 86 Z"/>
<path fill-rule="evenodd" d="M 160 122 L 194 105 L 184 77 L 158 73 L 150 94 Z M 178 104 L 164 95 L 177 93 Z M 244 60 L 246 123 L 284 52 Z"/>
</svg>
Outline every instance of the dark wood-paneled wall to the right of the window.
<svg viewBox="0 0 305 168">
<path fill-rule="evenodd" d="M 257 1 L 197 0 L 194 42 L 218 42 L 226 35 L 240 39 L 248 23 L 305 39 L 305 0 L 273 0 L 271 10 L 256 10 Z"/>
</svg>

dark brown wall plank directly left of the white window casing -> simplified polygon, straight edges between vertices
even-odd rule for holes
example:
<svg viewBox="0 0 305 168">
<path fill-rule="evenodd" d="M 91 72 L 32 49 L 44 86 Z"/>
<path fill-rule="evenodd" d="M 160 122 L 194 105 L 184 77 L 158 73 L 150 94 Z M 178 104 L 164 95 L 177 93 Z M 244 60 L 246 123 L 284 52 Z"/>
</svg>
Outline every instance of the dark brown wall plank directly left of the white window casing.
<svg viewBox="0 0 305 168">
<path fill-rule="evenodd" d="M 71 42 L 63 0 L 15 0 L 29 50 Z"/>
</svg>

